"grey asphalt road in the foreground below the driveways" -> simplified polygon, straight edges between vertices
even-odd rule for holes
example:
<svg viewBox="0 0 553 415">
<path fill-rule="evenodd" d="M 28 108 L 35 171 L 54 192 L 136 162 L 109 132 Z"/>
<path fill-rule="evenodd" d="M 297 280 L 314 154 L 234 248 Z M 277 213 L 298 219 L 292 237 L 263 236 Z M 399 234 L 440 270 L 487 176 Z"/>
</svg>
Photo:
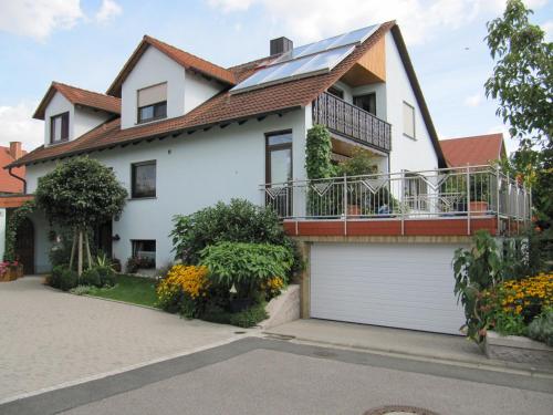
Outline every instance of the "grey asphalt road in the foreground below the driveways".
<svg viewBox="0 0 553 415">
<path fill-rule="evenodd" d="M 0 406 L 0 414 L 551 414 L 552 378 L 248 338 Z"/>
</svg>

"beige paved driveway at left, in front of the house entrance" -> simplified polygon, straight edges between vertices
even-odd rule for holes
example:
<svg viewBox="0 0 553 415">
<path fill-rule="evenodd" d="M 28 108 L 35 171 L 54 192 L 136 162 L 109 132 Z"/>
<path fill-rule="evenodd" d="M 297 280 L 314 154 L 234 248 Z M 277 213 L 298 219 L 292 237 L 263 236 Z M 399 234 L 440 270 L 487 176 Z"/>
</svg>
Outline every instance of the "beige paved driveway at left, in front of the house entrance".
<svg viewBox="0 0 553 415">
<path fill-rule="evenodd" d="M 236 339 L 236 328 L 42 284 L 0 283 L 0 402 Z"/>
</svg>

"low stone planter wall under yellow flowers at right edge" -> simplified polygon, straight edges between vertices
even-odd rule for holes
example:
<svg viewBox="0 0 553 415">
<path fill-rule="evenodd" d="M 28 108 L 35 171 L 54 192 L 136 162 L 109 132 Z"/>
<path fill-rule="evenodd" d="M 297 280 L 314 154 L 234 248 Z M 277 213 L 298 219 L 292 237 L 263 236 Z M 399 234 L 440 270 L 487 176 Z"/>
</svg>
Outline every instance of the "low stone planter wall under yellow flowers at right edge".
<svg viewBox="0 0 553 415">
<path fill-rule="evenodd" d="M 503 336 L 489 331 L 486 334 L 484 352 L 489 359 L 553 369 L 553 347 L 519 335 Z"/>
</svg>

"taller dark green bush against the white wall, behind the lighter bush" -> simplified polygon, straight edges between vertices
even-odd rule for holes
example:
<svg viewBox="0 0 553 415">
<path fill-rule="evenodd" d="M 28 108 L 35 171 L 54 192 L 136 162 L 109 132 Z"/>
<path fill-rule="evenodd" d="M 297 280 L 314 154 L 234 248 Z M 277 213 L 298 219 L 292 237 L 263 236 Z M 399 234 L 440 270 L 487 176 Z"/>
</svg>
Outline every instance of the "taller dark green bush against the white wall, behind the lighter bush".
<svg viewBox="0 0 553 415">
<path fill-rule="evenodd" d="M 294 258 L 292 272 L 302 268 L 295 242 L 286 237 L 276 214 L 248 200 L 218 203 L 192 215 L 176 216 L 170 236 L 177 259 L 197 264 L 200 252 L 219 242 L 270 243 L 285 247 Z M 282 276 L 288 279 L 286 276 Z"/>
</svg>

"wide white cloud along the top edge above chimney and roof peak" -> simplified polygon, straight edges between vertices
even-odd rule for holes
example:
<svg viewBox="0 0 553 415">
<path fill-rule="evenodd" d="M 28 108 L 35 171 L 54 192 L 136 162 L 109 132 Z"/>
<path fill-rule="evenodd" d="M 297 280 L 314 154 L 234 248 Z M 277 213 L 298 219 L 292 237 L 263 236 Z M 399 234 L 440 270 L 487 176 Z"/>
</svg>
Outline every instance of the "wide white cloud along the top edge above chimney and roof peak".
<svg viewBox="0 0 553 415">
<path fill-rule="evenodd" d="M 439 30 L 453 30 L 480 15 L 499 15 L 505 0 L 207 0 L 222 12 L 243 12 L 260 6 L 282 34 L 298 42 L 362 28 L 374 22 L 397 20 L 406 41 L 425 43 Z M 547 0 L 530 0 L 538 8 Z"/>
</svg>

